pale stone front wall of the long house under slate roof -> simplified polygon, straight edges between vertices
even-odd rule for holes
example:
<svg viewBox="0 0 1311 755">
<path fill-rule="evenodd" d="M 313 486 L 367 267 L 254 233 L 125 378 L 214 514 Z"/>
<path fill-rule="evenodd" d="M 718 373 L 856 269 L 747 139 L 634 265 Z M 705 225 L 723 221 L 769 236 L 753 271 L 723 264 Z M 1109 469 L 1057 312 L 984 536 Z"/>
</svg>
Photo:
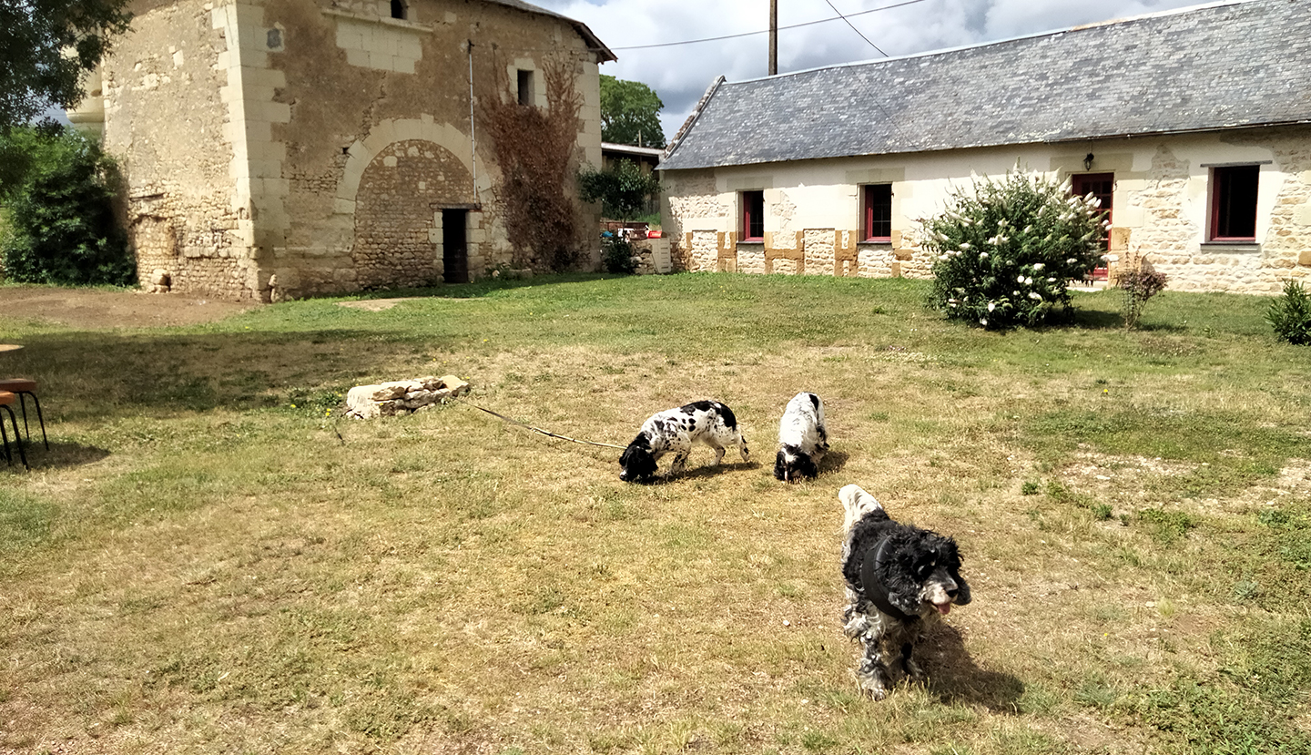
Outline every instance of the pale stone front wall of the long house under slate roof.
<svg viewBox="0 0 1311 755">
<path fill-rule="evenodd" d="M 1093 156 L 1091 166 L 1086 157 Z M 1257 242 L 1206 241 L 1211 169 L 1257 164 Z M 1063 180 L 1113 173 L 1113 256 L 1141 256 L 1169 288 L 1277 294 L 1311 278 L 1311 127 L 1104 140 L 1071 151 L 1028 144 L 924 155 L 889 155 L 666 170 L 663 227 L 687 270 L 738 270 L 864 278 L 931 278 L 919 219 L 943 211 L 973 174 L 1020 165 Z M 893 186 L 890 244 L 857 242 L 860 187 Z M 738 229 L 741 191 L 764 186 L 766 242 L 721 244 Z M 771 244 L 772 236 L 779 239 Z M 791 237 L 801 235 L 798 244 Z M 802 253 L 785 254 L 800 248 Z"/>
</svg>

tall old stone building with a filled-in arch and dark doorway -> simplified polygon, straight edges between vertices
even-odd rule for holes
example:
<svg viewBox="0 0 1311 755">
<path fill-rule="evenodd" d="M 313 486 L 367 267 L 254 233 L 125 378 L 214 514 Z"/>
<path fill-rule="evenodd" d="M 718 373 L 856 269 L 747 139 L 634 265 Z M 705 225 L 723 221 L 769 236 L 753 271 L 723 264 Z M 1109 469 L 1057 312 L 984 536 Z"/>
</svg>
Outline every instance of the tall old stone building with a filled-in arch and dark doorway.
<svg viewBox="0 0 1311 755">
<path fill-rule="evenodd" d="M 121 160 L 143 282 L 270 301 L 510 265 L 477 105 L 547 107 L 552 66 L 581 96 L 578 159 L 602 161 L 597 67 L 615 55 L 519 0 L 131 9 L 132 30 L 69 119 Z M 598 208 L 578 212 L 595 228 Z M 593 236 L 579 244 L 595 258 Z"/>
</svg>

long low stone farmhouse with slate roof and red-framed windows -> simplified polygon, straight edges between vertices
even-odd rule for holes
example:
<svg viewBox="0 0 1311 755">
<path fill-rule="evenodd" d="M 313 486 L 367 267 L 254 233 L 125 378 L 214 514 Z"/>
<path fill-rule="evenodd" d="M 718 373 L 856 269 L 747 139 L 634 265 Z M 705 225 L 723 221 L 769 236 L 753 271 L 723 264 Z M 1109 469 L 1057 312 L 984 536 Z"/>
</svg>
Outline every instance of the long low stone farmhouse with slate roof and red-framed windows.
<svg viewBox="0 0 1311 755">
<path fill-rule="evenodd" d="M 971 176 L 1070 178 L 1108 260 L 1175 290 L 1311 275 L 1311 3 L 1228 0 L 927 55 L 716 80 L 661 161 L 687 270 L 928 277 Z"/>
</svg>

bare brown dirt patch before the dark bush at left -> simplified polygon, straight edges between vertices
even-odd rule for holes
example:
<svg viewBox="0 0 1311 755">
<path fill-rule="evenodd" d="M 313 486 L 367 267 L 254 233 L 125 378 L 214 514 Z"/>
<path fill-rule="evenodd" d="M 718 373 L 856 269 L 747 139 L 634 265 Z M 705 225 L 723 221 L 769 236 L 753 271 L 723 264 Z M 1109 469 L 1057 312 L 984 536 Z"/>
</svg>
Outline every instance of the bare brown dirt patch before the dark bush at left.
<svg viewBox="0 0 1311 755">
<path fill-rule="evenodd" d="M 52 286 L 0 287 L 0 317 L 59 322 L 73 328 L 157 328 L 199 325 L 258 307 L 186 294 L 146 294 Z"/>
</svg>

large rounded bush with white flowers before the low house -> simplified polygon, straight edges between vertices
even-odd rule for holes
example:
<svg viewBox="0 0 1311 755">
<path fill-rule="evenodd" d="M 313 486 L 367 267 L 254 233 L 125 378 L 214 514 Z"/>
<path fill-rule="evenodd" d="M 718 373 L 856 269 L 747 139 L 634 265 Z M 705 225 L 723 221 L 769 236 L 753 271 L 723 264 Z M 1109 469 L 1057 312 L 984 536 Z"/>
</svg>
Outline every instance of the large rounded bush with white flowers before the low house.
<svg viewBox="0 0 1311 755">
<path fill-rule="evenodd" d="M 1070 182 L 1011 170 L 953 191 L 947 211 L 922 220 L 937 254 L 929 305 L 985 328 L 1037 325 L 1066 290 L 1097 266 L 1105 237 L 1100 202 L 1071 197 Z"/>
</svg>

